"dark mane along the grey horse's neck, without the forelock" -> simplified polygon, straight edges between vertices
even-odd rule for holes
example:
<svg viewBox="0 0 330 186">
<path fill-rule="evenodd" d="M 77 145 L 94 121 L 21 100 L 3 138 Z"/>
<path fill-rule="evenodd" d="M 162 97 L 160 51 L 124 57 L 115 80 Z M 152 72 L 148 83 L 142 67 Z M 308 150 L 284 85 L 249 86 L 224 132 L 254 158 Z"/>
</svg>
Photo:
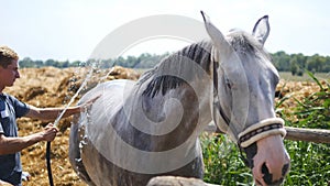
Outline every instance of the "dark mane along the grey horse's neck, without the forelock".
<svg viewBox="0 0 330 186">
<path fill-rule="evenodd" d="M 187 65 L 187 62 L 197 63 L 209 74 L 211 47 L 210 42 L 194 43 L 162 59 L 157 66 L 141 77 L 139 84 L 151 79 L 143 95 L 150 97 L 154 97 L 158 92 L 165 95 L 168 90 L 182 86 L 185 81 L 198 78 L 199 75 L 194 65 Z M 184 78 L 178 76 L 184 76 Z"/>
</svg>

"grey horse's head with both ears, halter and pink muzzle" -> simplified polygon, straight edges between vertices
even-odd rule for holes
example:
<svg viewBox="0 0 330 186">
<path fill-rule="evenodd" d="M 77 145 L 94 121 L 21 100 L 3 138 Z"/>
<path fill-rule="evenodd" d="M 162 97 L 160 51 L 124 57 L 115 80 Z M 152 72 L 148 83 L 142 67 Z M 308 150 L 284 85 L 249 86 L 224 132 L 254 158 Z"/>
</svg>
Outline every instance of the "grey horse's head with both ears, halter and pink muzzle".
<svg viewBox="0 0 330 186">
<path fill-rule="evenodd" d="M 264 51 L 268 18 L 260 19 L 252 34 L 232 31 L 224 36 L 204 15 L 212 48 L 213 120 L 246 153 L 258 185 L 279 185 L 289 169 L 283 144 L 284 121 L 274 111 L 278 73 Z"/>
</svg>

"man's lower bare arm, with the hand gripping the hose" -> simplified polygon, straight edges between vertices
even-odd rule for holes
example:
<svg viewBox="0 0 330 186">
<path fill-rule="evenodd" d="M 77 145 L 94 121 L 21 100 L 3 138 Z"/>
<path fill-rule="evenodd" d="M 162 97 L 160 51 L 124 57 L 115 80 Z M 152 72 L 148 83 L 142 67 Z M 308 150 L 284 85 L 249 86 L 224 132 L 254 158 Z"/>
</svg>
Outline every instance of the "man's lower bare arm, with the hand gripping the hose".
<svg viewBox="0 0 330 186">
<path fill-rule="evenodd" d="M 0 133 L 0 155 L 20 152 L 40 141 L 53 141 L 56 133 L 57 129 L 53 124 L 48 124 L 41 132 L 26 136 L 9 138 Z"/>
</svg>

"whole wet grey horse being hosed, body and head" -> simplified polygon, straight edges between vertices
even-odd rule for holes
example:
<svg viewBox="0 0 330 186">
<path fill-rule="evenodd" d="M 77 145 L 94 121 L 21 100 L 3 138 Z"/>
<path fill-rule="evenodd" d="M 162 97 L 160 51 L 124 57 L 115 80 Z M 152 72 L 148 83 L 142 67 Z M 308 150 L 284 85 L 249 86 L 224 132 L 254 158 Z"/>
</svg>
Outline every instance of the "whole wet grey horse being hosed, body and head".
<svg viewBox="0 0 330 186">
<path fill-rule="evenodd" d="M 263 50 L 267 21 L 257 22 L 254 36 L 234 31 L 227 39 L 206 17 L 205 22 L 211 41 L 164 58 L 138 81 L 103 83 L 80 99 L 101 95 L 72 127 L 70 162 L 86 183 L 136 186 L 157 175 L 202 178 L 198 135 L 211 120 L 239 141 L 256 183 L 283 180 L 289 161 L 273 109 L 278 74 Z M 248 138 L 257 129 L 262 133 Z M 260 152 L 270 145 L 278 154 L 271 160 Z"/>
</svg>

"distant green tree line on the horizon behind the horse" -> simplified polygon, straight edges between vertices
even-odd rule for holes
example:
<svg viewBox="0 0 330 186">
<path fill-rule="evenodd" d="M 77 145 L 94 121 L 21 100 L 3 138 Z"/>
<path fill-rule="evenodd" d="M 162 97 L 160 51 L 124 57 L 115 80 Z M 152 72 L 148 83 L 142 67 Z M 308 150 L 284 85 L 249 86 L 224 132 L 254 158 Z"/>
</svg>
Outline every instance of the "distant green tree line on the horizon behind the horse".
<svg viewBox="0 0 330 186">
<path fill-rule="evenodd" d="M 88 65 L 96 65 L 99 68 L 110 68 L 114 65 L 120 65 L 129 68 L 152 68 L 162 58 L 169 55 L 165 53 L 162 55 L 144 53 L 140 56 L 127 56 L 118 57 L 116 59 L 103 59 L 103 61 L 94 61 L 88 59 L 86 62 L 81 61 L 33 61 L 30 57 L 25 57 L 20 61 L 20 66 L 23 68 L 40 68 L 45 66 L 54 66 L 57 68 L 67 68 L 67 67 L 84 67 Z M 279 72 L 292 72 L 293 75 L 302 75 L 304 70 L 307 69 L 312 73 L 329 73 L 330 72 L 330 56 L 321 56 L 315 54 L 312 56 L 305 56 L 304 54 L 286 54 L 284 51 L 279 51 L 271 54 L 274 66 Z"/>
</svg>

